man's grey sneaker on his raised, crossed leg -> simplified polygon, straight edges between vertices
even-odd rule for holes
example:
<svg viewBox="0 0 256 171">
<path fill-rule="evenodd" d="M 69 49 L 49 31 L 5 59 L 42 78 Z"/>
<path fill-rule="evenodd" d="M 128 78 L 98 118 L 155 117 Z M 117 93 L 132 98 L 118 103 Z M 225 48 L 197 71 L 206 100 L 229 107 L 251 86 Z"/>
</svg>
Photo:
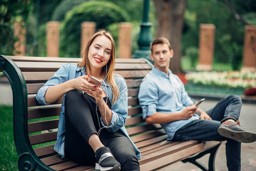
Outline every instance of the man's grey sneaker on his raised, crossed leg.
<svg viewBox="0 0 256 171">
<path fill-rule="evenodd" d="M 227 137 L 240 143 L 252 143 L 256 141 L 256 133 L 242 128 L 239 121 L 236 123 L 222 123 L 218 128 L 218 133 L 223 137 Z"/>
</svg>

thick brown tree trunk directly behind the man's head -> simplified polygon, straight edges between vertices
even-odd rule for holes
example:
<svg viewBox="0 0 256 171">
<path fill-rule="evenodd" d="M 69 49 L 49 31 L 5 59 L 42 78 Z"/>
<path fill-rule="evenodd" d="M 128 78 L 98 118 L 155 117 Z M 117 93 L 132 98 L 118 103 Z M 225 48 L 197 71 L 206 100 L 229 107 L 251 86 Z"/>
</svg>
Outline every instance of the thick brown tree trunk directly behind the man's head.
<svg viewBox="0 0 256 171">
<path fill-rule="evenodd" d="M 181 69 L 181 36 L 186 0 L 154 0 L 157 14 L 156 37 L 163 36 L 170 41 L 174 51 L 170 60 L 170 70 L 174 73 Z"/>
</svg>

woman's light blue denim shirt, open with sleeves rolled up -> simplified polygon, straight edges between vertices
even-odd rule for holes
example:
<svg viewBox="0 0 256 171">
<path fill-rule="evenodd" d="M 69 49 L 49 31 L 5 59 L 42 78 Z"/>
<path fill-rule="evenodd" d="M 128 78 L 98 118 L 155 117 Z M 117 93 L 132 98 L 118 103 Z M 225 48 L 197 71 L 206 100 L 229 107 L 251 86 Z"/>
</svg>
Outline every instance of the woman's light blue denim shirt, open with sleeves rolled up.
<svg viewBox="0 0 256 171">
<path fill-rule="evenodd" d="M 45 93 L 50 86 L 55 86 L 60 83 L 67 82 L 67 80 L 71 80 L 74 78 L 78 78 L 79 76 L 86 75 L 85 68 L 80 68 L 78 64 L 64 64 L 62 67 L 59 68 L 58 71 L 55 72 L 54 76 L 50 78 L 46 84 L 44 84 L 43 87 L 41 87 L 36 94 L 36 100 L 39 104 L 47 105 L 51 103 L 46 103 L 45 100 Z M 101 124 L 108 129 L 108 131 L 116 132 L 117 130 L 121 130 L 125 136 L 128 137 L 128 139 L 132 142 L 130 139 L 127 130 L 124 127 L 125 121 L 128 116 L 128 99 L 127 99 L 127 84 L 125 83 L 124 78 L 121 76 L 113 75 L 117 87 L 119 87 L 120 90 L 120 96 L 119 99 L 116 101 L 115 104 L 112 105 L 111 111 L 112 111 L 112 120 L 111 124 L 109 126 L 105 125 L 101 120 Z M 107 92 L 107 96 L 109 100 L 112 101 L 113 93 L 111 87 L 108 85 L 102 84 L 102 89 Z M 107 88 L 107 91 L 106 91 Z M 60 117 L 59 117 L 59 126 L 58 126 L 58 133 L 57 133 L 57 141 L 54 146 L 54 150 L 58 152 L 62 158 L 65 156 L 64 154 L 64 141 L 65 141 L 65 111 L 64 111 L 64 99 L 66 94 L 64 95 L 63 101 L 62 101 L 62 107 L 60 111 Z M 135 144 L 132 142 L 137 158 L 141 158 L 141 154 L 139 152 L 139 149 L 135 146 Z"/>
</svg>

